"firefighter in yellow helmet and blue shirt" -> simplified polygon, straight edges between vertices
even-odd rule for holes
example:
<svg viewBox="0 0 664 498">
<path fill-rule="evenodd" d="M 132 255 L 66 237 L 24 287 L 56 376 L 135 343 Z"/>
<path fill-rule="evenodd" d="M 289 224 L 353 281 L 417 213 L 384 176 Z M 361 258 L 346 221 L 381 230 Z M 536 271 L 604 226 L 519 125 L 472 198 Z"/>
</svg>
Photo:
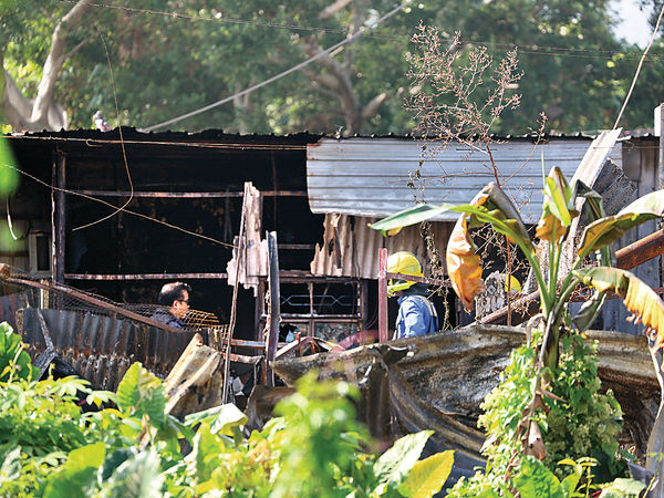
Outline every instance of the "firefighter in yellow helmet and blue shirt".
<svg viewBox="0 0 664 498">
<path fill-rule="evenodd" d="M 422 263 L 407 251 L 395 252 L 387 258 L 387 272 L 424 277 Z M 425 283 L 390 279 L 387 295 L 398 298 L 398 315 L 392 339 L 425 335 L 438 330 L 438 314 L 428 294 Z"/>
</svg>

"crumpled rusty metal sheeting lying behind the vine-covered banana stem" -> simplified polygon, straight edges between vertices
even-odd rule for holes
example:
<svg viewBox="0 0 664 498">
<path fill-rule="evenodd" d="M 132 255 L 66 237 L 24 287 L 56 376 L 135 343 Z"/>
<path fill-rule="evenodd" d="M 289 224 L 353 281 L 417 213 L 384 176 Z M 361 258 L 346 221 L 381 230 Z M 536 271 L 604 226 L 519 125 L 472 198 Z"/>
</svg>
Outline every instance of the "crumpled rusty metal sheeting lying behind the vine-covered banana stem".
<svg viewBox="0 0 664 498">
<path fill-rule="evenodd" d="M 632 439 L 644 452 L 660 400 L 647 341 L 644 336 L 615 332 L 590 331 L 587 335 L 599 341 L 598 370 L 603 386 L 615 393 Z M 499 373 L 509 363 L 511 351 L 525 340 L 523 329 L 471 325 L 341 353 L 284 359 L 274 362 L 274 372 L 288 385 L 311 369 L 324 376 L 341 374 L 350 382 L 357 382 L 376 354 L 386 360 L 387 346 L 409 349 L 414 354 L 398 361 L 397 369 L 385 361 L 390 375 L 388 404 L 380 392 L 365 392 L 359 412 L 362 419 L 374 423 L 392 412 L 396 415 L 396 427 L 392 427 L 395 432 L 434 429 L 432 444 L 436 450 L 457 450 L 453 476 L 457 478 L 473 475 L 474 466 L 481 464 L 479 447 L 484 436 L 476 428 L 479 405 L 498 385 Z M 382 428 L 380 424 L 373 427 Z M 457 455 L 463 458 L 457 459 Z"/>
</svg>

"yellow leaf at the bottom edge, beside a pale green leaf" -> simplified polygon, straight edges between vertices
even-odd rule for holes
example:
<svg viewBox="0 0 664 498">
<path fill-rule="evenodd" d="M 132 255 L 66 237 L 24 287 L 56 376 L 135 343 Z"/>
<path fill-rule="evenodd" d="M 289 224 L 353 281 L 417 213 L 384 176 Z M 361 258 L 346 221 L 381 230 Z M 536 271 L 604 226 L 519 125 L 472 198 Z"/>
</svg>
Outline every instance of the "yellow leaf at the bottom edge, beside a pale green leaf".
<svg viewBox="0 0 664 498">
<path fill-rule="evenodd" d="M 415 463 L 398 487 L 404 496 L 429 498 L 443 488 L 454 464 L 454 450 L 437 453 Z"/>
</svg>

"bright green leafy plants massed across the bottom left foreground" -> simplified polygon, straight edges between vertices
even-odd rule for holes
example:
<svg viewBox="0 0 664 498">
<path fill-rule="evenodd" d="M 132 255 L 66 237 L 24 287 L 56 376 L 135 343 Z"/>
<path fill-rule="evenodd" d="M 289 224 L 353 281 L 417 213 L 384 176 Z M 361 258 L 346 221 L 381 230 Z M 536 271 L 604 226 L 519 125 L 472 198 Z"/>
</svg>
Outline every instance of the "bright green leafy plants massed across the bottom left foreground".
<svg viewBox="0 0 664 498">
<path fill-rule="evenodd" d="M 247 417 L 231 404 L 184 422 L 168 415 L 162 382 L 139 363 L 115 394 L 18 375 L 29 371 L 13 360 L 24 360 L 22 344 L 2 326 L 0 357 L 12 360 L 0 381 L 0 496 L 430 497 L 452 469 L 453 452 L 418 460 L 430 432 L 370 453 L 347 383 L 307 375 L 277 406 L 281 416 L 245 437 Z M 83 413 L 82 394 L 116 407 Z"/>
</svg>

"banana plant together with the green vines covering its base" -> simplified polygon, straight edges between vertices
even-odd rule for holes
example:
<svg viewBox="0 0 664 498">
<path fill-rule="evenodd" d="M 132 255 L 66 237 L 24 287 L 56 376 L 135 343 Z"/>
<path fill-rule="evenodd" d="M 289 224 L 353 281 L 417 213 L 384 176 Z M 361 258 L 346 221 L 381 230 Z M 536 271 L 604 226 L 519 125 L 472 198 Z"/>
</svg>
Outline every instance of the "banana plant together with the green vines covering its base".
<svg viewBox="0 0 664 498">
<path fill-rule="evenodd" d="M 404 226 L 426 221 L 446 210 L 460 212 L 447 243 L 447 271 L 467 310 L 485 290 L 481 259 L 473 239 L 473 230 L 484 225 L 490 225 L 518 246 L 538 284 L 541 324 L 532 331 L 532 341 L 512 355 L 500 385 L 485 401 L 487 414 L 480 423 L 489 434 L 484 448 L 487 471 L 470 484 L 460 483 L 457 496 L 484 496 L 485 489 L 498 492 L 494 496 L 512 496 L 522 479 L 523 466 L 532 465 L 540 468 L 539 474 L 548 473 L 548 479 L 558 475 L 564 483 L 577 470 L 560 467 L 561 459 L 592 457 L 599 483 L 622 477 L 614 440 L 620 432 L 620 407 L 612 393 L 599 394 L 596 360 L 583 339 L 608 293 L 622 298 L 627 310 L 643 323 L 653 342 L 653 360 L 660 364 L 656 352 L 664 344 L 664 302 L 631 272 L 611 268 L 611 245 L 631 228 L 664 216 L 664 190 L 643 196 L 616 215 L 606 216 L 602 197 L 582 181 L 572 189 L 558 167 L 551 168 L 543 184 L 544 203 L 536 236 L 542 251 L 547 250 L 547 264 L 538 258 L 537 246 L 518 209 L 496 183 L 487 185 L 467 205 L 421 204 L 372 226 L 393 235 Z M 581 232 L 577 255 L 566 269 L 561 261 L 566 259 L 566 241 L 574 234 L 570 228 L 575 228 L 580 215 L 577 200 L 583 200 L 582 209 L 590 224 Z M 583 284 L 594 288 L 594 293 L 572 318 L 567 302 Z M 662 453 L 661 447 L 649 450 Z M 590 480 L 578 480 L 572 491 L 577 486 L 584 486 L 588 491 Z"/>
</svg>

